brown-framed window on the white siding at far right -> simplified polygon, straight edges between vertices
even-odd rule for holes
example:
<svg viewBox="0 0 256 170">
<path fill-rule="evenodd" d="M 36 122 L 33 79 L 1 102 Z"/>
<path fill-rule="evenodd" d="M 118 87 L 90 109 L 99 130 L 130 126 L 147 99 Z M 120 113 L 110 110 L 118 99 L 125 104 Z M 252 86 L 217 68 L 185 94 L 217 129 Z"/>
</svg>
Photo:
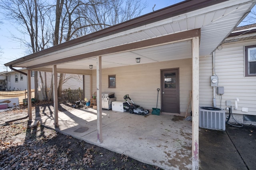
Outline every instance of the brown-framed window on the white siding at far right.
<svg viewBox="0 0 256 170">
<path fill-rule="evenodd" d="M 245 76 L 256 76 L 256 45 L 244 47 Z"/>
</svg>

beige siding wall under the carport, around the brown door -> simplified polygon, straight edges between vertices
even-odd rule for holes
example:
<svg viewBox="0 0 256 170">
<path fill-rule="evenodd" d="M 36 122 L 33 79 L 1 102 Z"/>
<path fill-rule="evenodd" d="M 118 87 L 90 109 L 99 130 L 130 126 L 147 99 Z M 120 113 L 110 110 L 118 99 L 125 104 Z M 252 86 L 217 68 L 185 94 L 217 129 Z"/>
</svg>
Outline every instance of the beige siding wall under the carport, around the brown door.
<svg viewBox="0 0 256 170">
<path fill-rule="evenodd" d="M 192 90 L 191 58 L 102 69 L 102 92 L 114 92 L 118 101 L 124 101 L 124 95 L 129 94 L 136 104 L 145 109 L 156 108 L 157 88 L 161 88 L 160 70 L 168 68 L 179 68 L 180 113 L 186 113 L 190 90 Z M 116 75 L 116 88 L 108 88 L 108 75 Z M 92 93 L 94 93 L 96 92 L 96 70 L 93 70 L 92 77 Z M 161 108 L 160 92 L 158 108 Z M 191 110 L 191 105 L 189 107 Z"/>
</svg>

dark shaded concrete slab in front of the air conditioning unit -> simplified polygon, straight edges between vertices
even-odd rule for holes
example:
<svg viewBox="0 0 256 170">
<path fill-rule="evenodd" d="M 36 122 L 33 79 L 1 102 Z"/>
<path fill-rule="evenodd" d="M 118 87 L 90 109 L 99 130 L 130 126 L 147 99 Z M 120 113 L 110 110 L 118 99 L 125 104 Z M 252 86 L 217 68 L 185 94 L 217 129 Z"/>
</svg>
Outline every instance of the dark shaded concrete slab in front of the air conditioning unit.
<svg viewBox="0 0 256 170">
<path fill-rule="evenodd" d="M 226 125 L 226 131 L 200 129 L 200 169 L 254 170 L 256 127 Z"/>
</svg>

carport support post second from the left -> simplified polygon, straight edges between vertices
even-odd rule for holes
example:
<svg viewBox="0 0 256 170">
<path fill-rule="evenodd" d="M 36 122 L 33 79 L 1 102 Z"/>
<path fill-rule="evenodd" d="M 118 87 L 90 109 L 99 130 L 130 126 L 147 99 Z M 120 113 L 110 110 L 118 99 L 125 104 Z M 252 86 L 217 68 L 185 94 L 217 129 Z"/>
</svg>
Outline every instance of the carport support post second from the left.
<svg viewBox="0 0 256 170">
<path fill-rule="evenodd" d="M 57 65 L 52 66 L 53 76 L 53 101 L 54 101 L 54 127 L 58 127 L 58 93 L 57 93 Z"/>
</svg>

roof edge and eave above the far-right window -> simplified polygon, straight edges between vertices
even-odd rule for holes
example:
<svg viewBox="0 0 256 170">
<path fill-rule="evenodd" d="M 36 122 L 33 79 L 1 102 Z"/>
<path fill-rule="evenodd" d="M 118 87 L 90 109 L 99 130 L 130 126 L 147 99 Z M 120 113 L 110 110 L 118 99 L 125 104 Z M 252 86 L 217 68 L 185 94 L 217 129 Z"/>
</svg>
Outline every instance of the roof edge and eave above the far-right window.
<svg viewBox="0 0 256 170">
<path fill-rule="evenodd" d="M 256 39 L 256 23 L 236 27 L 228 38 L 223 43 L 232 43 L 237 41 L 245 41 L 249 39 Z"/>
</svg>

